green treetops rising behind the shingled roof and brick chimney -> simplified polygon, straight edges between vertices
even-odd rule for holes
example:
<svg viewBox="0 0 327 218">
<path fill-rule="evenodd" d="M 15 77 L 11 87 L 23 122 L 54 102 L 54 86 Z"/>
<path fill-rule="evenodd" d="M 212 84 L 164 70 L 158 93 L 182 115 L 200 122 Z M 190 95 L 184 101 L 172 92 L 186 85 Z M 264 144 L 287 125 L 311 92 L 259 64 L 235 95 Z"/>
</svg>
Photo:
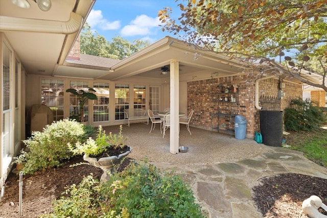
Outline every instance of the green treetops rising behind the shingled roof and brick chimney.
<svg viewBox="0 0 327 218">
<path fill-rule="evenodd" d="M 107 41 L 97 31 L 92 31 L 88 23 L 85 23 L 81 31 L 80 48 L 82 54 L 121 60 L 124 56 L 130 56 L 149 44 L 149 41 L 141 39 L 129 42 L 120 36 L 112 38 L 112 42 Z"/>
</svg>

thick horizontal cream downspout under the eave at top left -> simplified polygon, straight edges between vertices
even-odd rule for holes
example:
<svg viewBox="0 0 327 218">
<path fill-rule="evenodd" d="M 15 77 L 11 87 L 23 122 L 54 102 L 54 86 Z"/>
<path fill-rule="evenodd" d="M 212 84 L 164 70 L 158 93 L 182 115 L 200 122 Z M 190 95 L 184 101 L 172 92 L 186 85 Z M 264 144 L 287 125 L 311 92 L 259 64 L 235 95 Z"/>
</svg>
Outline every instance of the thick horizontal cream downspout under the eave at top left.
<svg viewBox="0 0 327 218">
<path fill-rule="evenodd" d="M 71 12 L 68 21 L 0 16 L 0 31 L 72 34 L 80 30 L 83 17 Z"/>
</svg>

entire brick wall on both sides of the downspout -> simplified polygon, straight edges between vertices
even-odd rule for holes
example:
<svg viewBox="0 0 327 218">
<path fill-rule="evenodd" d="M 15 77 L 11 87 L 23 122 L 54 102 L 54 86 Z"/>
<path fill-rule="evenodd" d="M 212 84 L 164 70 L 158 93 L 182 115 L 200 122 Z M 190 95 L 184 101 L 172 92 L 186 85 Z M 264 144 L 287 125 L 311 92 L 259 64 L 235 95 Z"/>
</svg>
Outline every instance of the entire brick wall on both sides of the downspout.
<svg viewBox="0 0 327 218">
<path fill-rule="evenodd" d="M 302 95 L 300 84 L 284 83 L 285 96 L 281 101 L 282 110 L 289 105 L 291 99 Z M 190 125 L 211 130 L 213 123 L 213 126 L 217 127 L 217 119 L 212 120 L 212 114 L 221 108 L 230 108 L 228 105 L 235 105 L 219 100 L 222 89 L 231 87 L 232 84 L 238 86 L 238 92 L 233 95 L 233 98 L 238 100 L 236 104 L 238 114 L 244 116 L 247 121 L 247 137 L 253 137 L 254 131 L 260 130 L 259 110 L 255 108 L 255 81 L 247 81 L 245 75 L 188 82 L 188 110 L 194 109 Z M 278 79 L 262 80 L 259 83 L 260 94 L 277 97 L 278 89 Z M 221 123 L 228 124 L 224 118 L 220 119 Z"/>
</svg>

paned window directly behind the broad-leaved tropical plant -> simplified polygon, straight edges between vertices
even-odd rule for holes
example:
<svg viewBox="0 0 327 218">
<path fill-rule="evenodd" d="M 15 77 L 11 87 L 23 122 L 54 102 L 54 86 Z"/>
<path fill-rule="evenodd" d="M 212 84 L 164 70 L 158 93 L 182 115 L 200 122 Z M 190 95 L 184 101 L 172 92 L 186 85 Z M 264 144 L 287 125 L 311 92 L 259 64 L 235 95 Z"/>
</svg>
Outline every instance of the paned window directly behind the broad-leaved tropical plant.
<svg viewBox="0 0 327 218">
<path fill-rule="evenodd" d="M 69 83 L 70 88 L 74 88 L 76 90 L 84 90 L 88 91 L 88 82 L 85 81 L 71 81 Z M 84 104 L 84 122 L 88 121 L 88 100 Z M 78 118 L 80 116 L 79 114 L 80 110 L 78 107 L 78 97 L 71 93 L 69 95 L 69 117 L 70 118 Z"/>
</svg>

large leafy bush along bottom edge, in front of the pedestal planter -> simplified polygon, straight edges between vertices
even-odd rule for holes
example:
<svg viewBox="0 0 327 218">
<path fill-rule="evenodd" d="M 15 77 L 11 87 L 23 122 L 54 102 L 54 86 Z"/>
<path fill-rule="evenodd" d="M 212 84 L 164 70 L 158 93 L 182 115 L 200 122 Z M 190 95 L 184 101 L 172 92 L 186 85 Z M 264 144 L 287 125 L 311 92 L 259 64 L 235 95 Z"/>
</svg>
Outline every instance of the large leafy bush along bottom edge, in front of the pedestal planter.
<svg viewBox="0 0 327 218">
<path fill-rule="evenodd" d="M 148 163 L 131 163 L 107 182 L 89 176 L 65 193 L 43 217 L 205 217 L 180 176 Z"/>
</svg>

